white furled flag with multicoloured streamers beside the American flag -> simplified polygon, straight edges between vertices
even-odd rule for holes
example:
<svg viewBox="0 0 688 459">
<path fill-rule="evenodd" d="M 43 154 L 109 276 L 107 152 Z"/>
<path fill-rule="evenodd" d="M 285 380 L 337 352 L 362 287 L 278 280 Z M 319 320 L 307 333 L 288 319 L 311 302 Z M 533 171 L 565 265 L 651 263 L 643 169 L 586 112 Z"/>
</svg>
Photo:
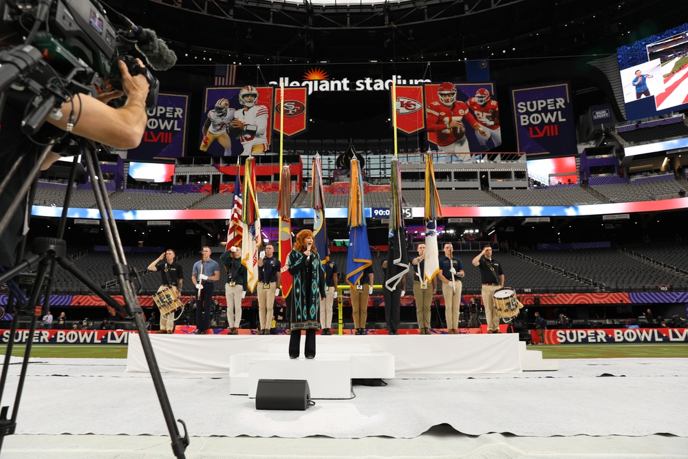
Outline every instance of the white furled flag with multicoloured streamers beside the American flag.
<svg viewBox="0 0 688 459">
<path fill-rule="evenodd" d="M 246 159 L 246 167 L 244 167 L 244 193 L 246 193 L 246 205 L 241 218 L 243 228 L 241 264 L 246 266 L 248 290 L 254 292 L 258 285 L 258 248 L 263 245 L 263 241 L 256 197 L 255 158 L 252 156 Z"/>
</svg>

